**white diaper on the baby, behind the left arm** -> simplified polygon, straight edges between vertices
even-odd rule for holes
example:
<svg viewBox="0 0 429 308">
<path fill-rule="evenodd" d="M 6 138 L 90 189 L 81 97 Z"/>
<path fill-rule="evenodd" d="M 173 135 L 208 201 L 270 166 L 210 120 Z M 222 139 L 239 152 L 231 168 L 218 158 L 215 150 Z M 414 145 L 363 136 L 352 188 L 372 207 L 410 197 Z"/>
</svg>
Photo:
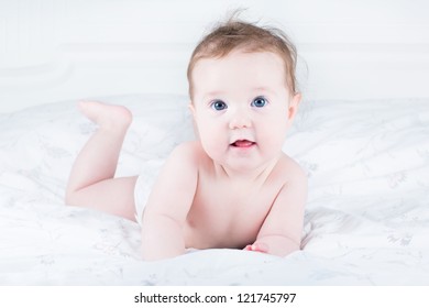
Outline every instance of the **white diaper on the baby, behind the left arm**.
<svg viewBox="0 0 429 308">
<path fill-rule="evenodd" d="M 144 208 L 146 207 L 152 187 L 160 174 L 164 161 L 148 161 L 144 164 L 143 172 L 139 175 L 134 186 L 135 220 L 142 224 Z"/>
</svg>

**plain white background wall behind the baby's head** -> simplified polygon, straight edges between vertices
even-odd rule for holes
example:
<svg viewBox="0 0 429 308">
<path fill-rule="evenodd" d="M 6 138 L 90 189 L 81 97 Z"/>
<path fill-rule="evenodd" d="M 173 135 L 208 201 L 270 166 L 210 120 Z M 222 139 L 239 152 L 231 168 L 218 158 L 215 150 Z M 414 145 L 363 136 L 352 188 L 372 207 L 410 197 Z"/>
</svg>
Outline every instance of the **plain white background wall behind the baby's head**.
<svg viewBox="0 0 429 308">
<path fill-rule="evenodd" d="M 0 111 L 116 94 L 186 95 L 196 42 L 240 7 L 289 33 L 307 99 L 428 97 L 428 3 L 0 0 Z"/>
</svg>

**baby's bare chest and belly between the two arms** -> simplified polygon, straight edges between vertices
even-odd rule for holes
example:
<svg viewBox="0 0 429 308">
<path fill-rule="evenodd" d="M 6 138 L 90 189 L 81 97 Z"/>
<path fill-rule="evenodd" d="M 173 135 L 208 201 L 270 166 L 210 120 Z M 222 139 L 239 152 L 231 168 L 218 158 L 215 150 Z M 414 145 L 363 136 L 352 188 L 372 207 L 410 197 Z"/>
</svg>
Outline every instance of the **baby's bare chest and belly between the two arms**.
<svg viewBox="0 0 429 308">
<path fill-rule="evenodd" d="M 219 178 L 201 168 L 197 191 L 185 224 L 187 248 L 237 248 L 252 244 L 285 185 L 277 164 L 263 180 Z"/>
</svg>

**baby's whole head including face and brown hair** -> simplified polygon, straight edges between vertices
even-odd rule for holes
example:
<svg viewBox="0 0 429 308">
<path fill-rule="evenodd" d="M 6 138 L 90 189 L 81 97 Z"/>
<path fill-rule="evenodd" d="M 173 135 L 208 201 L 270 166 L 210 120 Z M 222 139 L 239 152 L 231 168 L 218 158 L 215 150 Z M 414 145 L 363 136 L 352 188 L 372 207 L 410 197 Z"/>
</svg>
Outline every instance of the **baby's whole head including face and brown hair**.
<svg viewBox="0 0 429 308">
<path fill-rule="evenodd" d="M 189 109 L 204 151 L 223 169 L 260 170 L 282 153 L 300 94 L 296 51 L 278 30 L 230 20 L 188 66 Z"/>
</svg>

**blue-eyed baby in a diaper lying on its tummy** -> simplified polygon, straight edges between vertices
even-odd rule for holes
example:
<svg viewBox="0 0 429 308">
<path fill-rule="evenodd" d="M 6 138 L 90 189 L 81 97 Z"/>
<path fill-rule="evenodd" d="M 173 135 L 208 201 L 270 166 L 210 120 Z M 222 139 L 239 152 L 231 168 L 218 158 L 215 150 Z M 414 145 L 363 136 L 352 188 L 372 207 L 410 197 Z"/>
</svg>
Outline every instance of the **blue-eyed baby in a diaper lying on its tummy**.
<svg viewBox="0 0 429 308">
<path fill-rule="evenodd" d="M 278 30 L 230 20 L 204 37 L 188 66 L 197 140 L 172 152 L 145 202 L 134 198 L 139 176 L 114 177 L 131 112 L 81 102 L 98 130 L 73 166 L 66 202 L 141 221 L 147 261 L 188 248 L 299 250 L 307 178 L 282 152 L 300 102 L 295 66 Z"/>
</svg>

